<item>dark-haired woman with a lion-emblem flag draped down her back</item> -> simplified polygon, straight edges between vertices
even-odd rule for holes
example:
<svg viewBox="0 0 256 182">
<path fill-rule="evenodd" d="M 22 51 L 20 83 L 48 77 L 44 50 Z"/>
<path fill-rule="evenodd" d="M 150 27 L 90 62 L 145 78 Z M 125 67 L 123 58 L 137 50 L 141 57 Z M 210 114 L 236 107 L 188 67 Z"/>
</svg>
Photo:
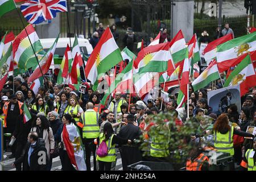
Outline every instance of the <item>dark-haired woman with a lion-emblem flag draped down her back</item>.
<svg viewBox="0 0 256 182">
<path fill-rule="evenodd" d="M 75 171 L 72 164 L 78 171 L 86 171 L 84 160 L 84 150 L 82 141 L 77 132 L 76 121 L 70 114 L 64 114 L 62 118 L 63 126 L 58 130 L 60 148 L 60 161 L 63 171 Z"/>
</svg>

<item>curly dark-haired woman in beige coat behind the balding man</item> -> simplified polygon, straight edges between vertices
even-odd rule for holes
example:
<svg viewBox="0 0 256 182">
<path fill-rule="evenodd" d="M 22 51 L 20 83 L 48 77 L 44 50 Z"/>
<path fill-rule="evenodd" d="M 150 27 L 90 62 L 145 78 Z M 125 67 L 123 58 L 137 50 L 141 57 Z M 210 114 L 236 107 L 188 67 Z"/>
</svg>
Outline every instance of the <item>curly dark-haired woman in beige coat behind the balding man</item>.
<svg viewBox="0 0 256 182">
<path fill-rule="evenodd" d="M 38 133 L 38 138 L 43 138 L 44 142 L 46 143 L 46 150 L 48 159 L 50 158 L 50 154 L 53 153 L 55 142 L 54 142 L 54 136 L 52 133 L 52 129 L 49 125 L 49 122 L 47 118 L 43 115 L 39 115 L 35 118 L 34 122 L 32 123 L 32 129 L 31 131 L 36 131 Z M 51 163 L 49 163 L 47 169 L 48 171 L 51 170 Z"/>
</svg>

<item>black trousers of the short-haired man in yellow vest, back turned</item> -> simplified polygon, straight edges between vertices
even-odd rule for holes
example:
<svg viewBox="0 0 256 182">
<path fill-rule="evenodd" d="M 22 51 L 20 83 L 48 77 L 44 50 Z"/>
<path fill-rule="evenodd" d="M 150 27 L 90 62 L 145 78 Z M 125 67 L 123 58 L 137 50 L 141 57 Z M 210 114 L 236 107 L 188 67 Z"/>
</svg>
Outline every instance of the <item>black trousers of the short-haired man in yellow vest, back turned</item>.
<svg viewBox="0 0 256 182">
<path fill-rule="evenodd" d="M 93 171 L 97 171 L 96 168 L 96 147 L 97 145 L 94 144 L 95 138 L 83 138 L 82 143 L 85 146 L 85 164 L 87 171 L 90 171 L 90 156 L 93 153 Z"/>
</svg>

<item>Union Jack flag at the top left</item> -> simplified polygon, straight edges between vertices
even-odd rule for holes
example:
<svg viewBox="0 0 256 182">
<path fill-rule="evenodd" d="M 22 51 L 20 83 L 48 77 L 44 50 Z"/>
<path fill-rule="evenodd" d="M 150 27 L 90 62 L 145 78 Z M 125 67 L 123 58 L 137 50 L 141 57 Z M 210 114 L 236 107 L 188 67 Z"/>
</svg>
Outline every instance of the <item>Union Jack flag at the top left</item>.
<svg viewBox="0 0 256 182">
<path fill-rule="evenodd" d="M 23 16 L 31 24 L 42 23 L 56 17 L 57 12 L 67 11 L 66 0 L 31 0 L 20 6 Z"/>
</svg>

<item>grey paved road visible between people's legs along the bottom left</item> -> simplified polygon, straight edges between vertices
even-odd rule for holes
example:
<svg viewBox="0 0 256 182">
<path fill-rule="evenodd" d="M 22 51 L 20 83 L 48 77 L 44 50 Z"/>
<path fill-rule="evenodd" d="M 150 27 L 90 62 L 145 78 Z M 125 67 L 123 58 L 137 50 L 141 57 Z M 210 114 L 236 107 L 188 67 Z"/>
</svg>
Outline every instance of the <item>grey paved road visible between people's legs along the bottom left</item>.
<svg viewBox="0 0 256 182">
<path fill-rule="evenodd" d="M 15 160 L 15 158 L 10 159 L 9 156 L 11 155 L 10 152 L 6 152 L 4 155 L 7 155 L 7 158 L 3 160 L 3 171 L 15 171 L 15 168 L 11 166 Z M 93 156 L 90 157 L 90 166 L 91 170 L 93 171 Z M 115 166 L 115 171 L 122 170 L 122 160 L 119 152 L 117 153 L 117 164 Z M 61 171 L 61 163 L 60 157 L 57 157 L 52 160 L 52 169 L 51 171 Z"/>
</svg>

